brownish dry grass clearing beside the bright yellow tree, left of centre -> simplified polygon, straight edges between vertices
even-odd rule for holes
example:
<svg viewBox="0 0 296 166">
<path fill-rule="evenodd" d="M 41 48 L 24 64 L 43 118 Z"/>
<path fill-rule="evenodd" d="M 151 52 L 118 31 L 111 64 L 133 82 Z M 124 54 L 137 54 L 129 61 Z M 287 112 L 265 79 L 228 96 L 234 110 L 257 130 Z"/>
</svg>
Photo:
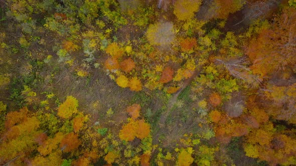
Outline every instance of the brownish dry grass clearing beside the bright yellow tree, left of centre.
<svg viewBox="0 0 296 166">
<path fill-rule="evenodd" d="M 60 99 L 73 95 L 79 101 L 79 110 L 91 115 L 93 122 L 122 121 L 127 118 L 125 107 L 133 92 L 117 86 L 106 74 L 94 71 L 90 78 L 78 77 L 67 68 L 62 68 L 55 77 L 55 94 Z M 106 118 L 106 111 L 113 114 Z"/>
</svg>

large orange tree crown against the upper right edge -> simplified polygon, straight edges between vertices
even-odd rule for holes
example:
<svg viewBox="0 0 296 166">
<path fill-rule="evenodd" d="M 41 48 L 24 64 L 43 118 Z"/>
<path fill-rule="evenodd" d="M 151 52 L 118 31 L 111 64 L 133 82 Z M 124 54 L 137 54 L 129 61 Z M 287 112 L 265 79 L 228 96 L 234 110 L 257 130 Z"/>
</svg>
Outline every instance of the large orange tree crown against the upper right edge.
<svg viewBox="0 0 296 166">
<path fill-rule="evenodd" d="M 263 28 L 257 38 L 249 43 L 246 53 L 252 61 L 250 67 L 261 77 L 296 63 L 294 52 L 296 47 L 296 9 L 283 10 L 274 18 L 271 28 Z"/>
</svg>

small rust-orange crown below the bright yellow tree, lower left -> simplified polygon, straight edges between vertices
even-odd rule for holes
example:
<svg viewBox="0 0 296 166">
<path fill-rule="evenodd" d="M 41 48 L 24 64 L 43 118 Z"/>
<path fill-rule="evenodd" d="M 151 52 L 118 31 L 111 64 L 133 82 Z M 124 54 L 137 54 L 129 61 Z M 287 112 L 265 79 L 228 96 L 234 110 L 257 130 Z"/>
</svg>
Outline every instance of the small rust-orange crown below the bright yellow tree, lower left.
<svg viewBox="0 0 296 166">
<path fill-rule="evenodd" d="M 80 143 L 81 141 L 78 139 L 78 135 L 74 132 L 70 132 L 62 139 L 60 147 L 63 148 L 65 152 L 69 152 L 76 149 Z"/>
</svg>

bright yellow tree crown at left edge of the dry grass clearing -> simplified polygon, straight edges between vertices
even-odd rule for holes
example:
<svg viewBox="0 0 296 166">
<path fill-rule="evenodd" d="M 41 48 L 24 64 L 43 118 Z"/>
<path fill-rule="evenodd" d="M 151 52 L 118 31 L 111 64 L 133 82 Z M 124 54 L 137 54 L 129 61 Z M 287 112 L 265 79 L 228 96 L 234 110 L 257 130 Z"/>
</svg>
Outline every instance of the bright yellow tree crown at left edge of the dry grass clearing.
<svg viewBox="0 0 296 166">
<path fill-rule="evenodd" d="M 58 108 L 58 115 L 62 118 L 69 118 L 72 114 L 78 112 L 78 100 L 72 95 L 67 96 L 66 101 L 64 101 Z"/>
</svg>

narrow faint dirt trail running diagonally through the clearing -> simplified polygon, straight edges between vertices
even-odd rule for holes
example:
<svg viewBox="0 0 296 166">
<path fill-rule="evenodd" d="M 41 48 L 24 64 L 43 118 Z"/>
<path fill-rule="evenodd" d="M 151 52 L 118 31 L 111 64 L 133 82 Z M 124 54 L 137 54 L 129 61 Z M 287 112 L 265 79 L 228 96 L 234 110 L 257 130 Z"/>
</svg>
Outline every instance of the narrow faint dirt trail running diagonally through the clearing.
<svg viewBox="0 0 296 166">
<path fill-rule="evenodd" d="M 165 123 L 166 123 L 166 119 L 169 115 L 169 112 L 171 111 L 171 109 L 173 108 L 174 104 L 177 102 L 178 96 L 179 94 L 191 83 L 191 81 L 200 73 L 200 71 L 195 70 L 192 74 L 192 76 L 188 79 L 186 79 L 183 83 L 183 85 L 181 86 L 181 88 L 178 90 L 177 93 L 173 94 L 172 98 L 168 101 L 167 103 L 167 110 L 165 112 L 162 113 L 161 117 L 160 117 L 160 127 L 163 128 L 165 127 Z"/>
</svg>

